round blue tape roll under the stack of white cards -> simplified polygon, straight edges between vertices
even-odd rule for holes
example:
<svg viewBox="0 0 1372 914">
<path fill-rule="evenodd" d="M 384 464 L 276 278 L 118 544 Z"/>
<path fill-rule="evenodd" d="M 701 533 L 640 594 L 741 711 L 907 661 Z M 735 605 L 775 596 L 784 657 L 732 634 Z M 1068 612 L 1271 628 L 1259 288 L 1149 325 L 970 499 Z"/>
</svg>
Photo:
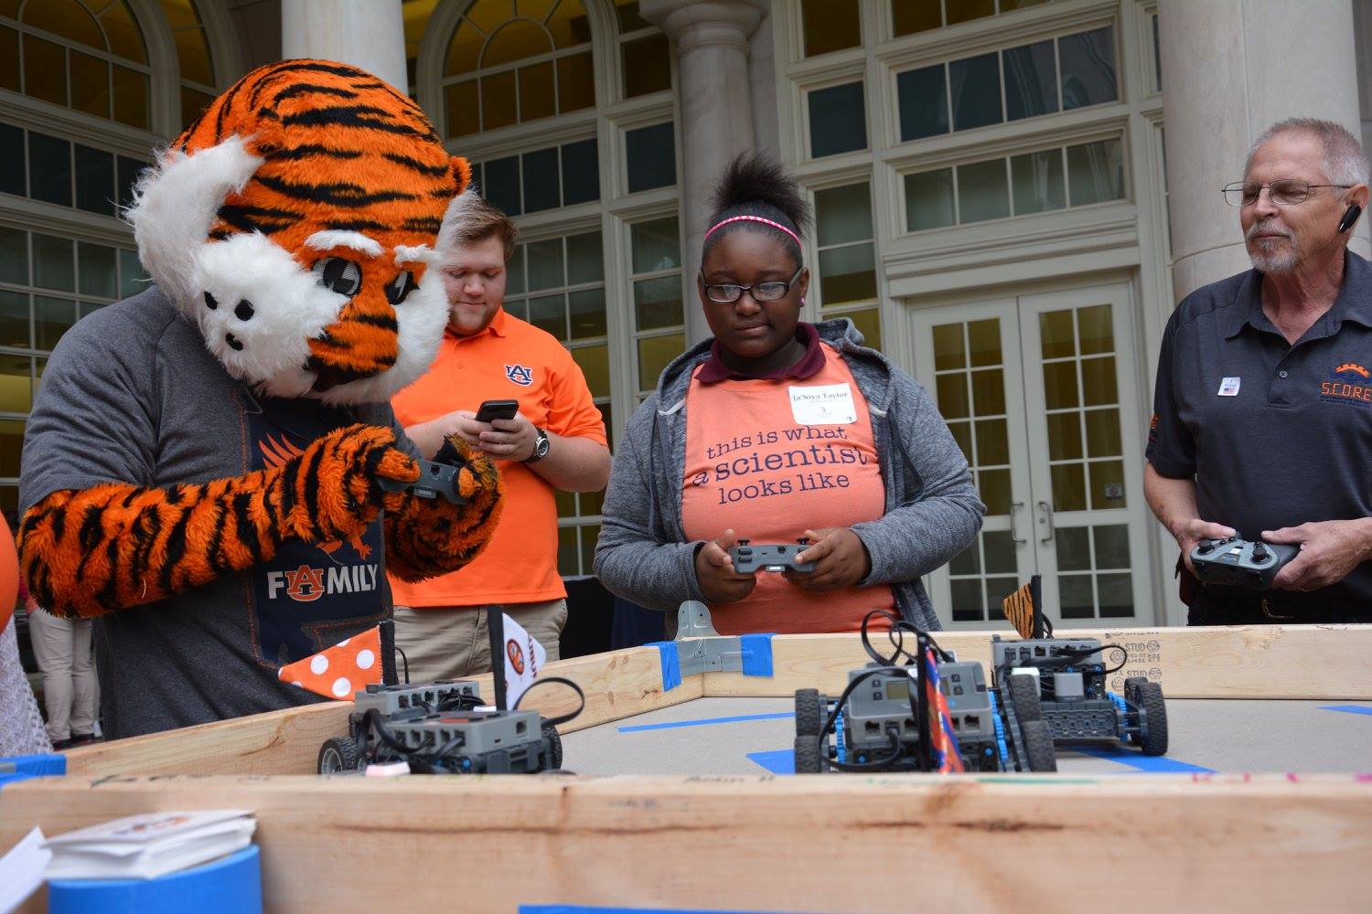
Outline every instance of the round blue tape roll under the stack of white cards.
<svg viewBox="0 0 1372 914">
<path fill-rule="evenodd" d="M 261 914 L 262 865 L 257 844 L 155 880 L 51 880 L 48 914 Z"/>
</svg>

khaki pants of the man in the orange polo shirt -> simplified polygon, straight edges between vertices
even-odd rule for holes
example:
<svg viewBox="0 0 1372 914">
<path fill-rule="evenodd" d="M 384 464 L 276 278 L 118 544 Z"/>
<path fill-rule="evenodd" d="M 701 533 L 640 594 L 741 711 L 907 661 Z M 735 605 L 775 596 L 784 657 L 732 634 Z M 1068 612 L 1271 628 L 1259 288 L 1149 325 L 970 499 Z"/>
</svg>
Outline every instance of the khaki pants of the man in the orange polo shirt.
<svg viewBox="0 0 1372 914">
<path fill-rule="evenodd" d="M 512 603 L 505 614 L 524 626 L 547 651 L 560 658 L 557 639 L 567 625 L 567 600 Z M 395 645 L 410 665 L 410 682 L 460 680 L 491 671 L 491 634 L 484 606 L 395 607 Z M 405 662 L 397 671 L 403 678 Z"/>
</svg>

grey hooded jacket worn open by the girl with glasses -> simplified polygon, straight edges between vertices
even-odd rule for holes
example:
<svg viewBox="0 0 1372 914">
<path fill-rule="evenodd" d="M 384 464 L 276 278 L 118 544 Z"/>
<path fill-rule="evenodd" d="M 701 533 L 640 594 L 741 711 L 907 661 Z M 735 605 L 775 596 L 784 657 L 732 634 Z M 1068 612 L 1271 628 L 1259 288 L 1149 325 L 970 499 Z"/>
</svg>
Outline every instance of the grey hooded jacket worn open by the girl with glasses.
<svg viewBox="0 0 1372 914">
<path fill-rule="evenodd" d="M 886 491 L 885 514 L 852 526 L 871 556 L 859 586 L 893 585 L 904 619 L 940 628 L 921 576 L 962 552 L 981 529 L 986 507 L 977 497 L 962 449 L 929 392 L 863 345 L 851 321 L 816 323 L 822 345 L 837 349 L 871 411 Z M 686 477 L 686 391 L 696 366 L 709 359 L 705 340 L 672 360 L 657 392 L 624 429 L 605 491 L 595 544 L 595 574 L 612 592 L 639 606 L 675 613 L 683 600 L 707 602 L 696 581 L 696 552 L 682 530 Z M 668 637 L 675 615 L 667 618 Z"/>
</svg>

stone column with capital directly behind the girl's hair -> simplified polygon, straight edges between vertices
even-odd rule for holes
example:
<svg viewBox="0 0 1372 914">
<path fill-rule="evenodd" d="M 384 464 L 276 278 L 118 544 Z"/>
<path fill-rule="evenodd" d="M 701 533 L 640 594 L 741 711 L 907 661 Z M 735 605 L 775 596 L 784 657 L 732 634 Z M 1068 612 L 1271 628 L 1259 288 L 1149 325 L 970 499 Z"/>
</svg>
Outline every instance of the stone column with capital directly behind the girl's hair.
<svg viewBox="0 0 1372 914">
<path fill-rule="evenodd" d="M 681 99 L 682 225 L 686 249 L 686 341 L 709 337 L 694 293 L 711 192 L 734 156 L 755 148 L 748 36 L 763 16 L 757 0 L 642 0 L 639 11 L 676 49 Z"/>
</svg>

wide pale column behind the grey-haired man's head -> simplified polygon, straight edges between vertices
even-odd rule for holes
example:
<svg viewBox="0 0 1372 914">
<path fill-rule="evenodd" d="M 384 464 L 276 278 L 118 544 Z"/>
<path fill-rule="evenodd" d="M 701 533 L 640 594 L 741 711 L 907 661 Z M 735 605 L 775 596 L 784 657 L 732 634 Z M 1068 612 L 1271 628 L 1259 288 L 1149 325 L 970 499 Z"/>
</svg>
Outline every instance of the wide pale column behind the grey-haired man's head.
<svg viewBox="0 0 1372 914">
<path fill-rule="evenodd" d="M 1350 0 L 1161 0 L 1162 104 L 1172 284 L 1190 292 L 1250 269 L 1239 212 L 1220 188 L 1283 118 L 1324 118 L 1362 136 Z M 1351 248 L 1368 256 L 1368 218 Z"/>
</svg>

